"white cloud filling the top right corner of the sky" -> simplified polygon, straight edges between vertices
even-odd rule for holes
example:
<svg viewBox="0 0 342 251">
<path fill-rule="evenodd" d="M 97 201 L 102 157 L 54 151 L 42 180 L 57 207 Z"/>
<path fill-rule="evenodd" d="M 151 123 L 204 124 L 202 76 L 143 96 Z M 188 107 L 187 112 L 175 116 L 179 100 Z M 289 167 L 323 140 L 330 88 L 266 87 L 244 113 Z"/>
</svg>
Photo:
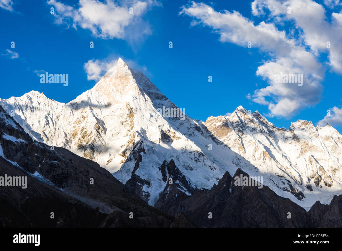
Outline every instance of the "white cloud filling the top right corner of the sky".
<svg viewBox="0 0 342 251">
<path fill-rule="evenodd" d="M 340 4 L 339 1 L 327 2 Z M 329 23 L 325 8 L 312 0 L 255 0 L 252 5 L 253 14 L 268 9 L 275 20 L 293 21 L 303 32 L 303 42 L 310 47 L 311 52 L 316 56 L 322 52 L 328 53 L 331 70 L 342 73 L 342 11 L 333 12 Z M 291 14 L 287 14 L 287 8 L 291 9 Z M 330 48 L 327 48 L 327 42 L 330 42 Z"/>
</svg>

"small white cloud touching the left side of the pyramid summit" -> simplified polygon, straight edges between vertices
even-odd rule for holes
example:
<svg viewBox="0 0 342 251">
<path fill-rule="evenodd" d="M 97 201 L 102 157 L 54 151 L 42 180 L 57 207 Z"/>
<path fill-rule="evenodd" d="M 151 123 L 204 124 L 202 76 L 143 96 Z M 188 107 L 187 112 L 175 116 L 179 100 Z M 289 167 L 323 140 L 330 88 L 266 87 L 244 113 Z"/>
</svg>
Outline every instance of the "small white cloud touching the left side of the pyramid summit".
<svg viewBox="0 0 342 251">
<path fill-rule="evenodd" d="M 117 60 L 109 61 L 107 59 L 91 59 L 86 62 L 83 67 L 84 70 L 86 70 L 88 80 L 98 81 L 110 68 L 115 67 L 116 64 Z"/>
</svg>

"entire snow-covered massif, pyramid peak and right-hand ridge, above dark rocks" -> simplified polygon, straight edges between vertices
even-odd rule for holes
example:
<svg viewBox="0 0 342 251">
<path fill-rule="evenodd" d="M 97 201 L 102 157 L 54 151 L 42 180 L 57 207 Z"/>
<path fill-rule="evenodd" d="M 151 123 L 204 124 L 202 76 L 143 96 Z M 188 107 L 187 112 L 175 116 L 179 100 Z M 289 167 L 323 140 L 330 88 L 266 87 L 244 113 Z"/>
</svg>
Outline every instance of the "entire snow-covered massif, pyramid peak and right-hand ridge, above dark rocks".
<svg viewBox="0 0 342 251">
<path fill-rule="evenodd" d="M 92 159 L 123 183 L 134 180 L 150 205 L 168 182 L 160 167 L 171 159 L 185 177 L 175 182 L 186 194 L 189 187 L 210 189 L 237 168 L 263 176 L 264 185 L 306 208 L 342 194 L 342 136 L 330 125 L 298 121 L 279 129 L 242 107 L 206 123 L 182 113 L 165 117 L 160 109 L 175 104 L 121 59 L 67 104 L 32 91 L 0 105 L 33 139 Z"/>
</svg>

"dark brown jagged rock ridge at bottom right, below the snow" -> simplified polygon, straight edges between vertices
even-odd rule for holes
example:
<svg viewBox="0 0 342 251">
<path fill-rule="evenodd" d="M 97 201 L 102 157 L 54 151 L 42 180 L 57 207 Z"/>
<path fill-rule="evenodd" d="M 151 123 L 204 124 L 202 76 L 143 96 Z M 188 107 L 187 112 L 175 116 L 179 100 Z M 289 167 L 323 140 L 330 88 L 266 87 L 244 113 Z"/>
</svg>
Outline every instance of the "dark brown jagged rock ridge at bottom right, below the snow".
<svg viewBox="0 0 342 251">
<path fill-rule="evenodd" d="M 226 172 L 209 191 L 184 195 L 162 210 L 173 215 L 182 212 L 200 227 L 342 227 L 342 195 L 330 205 L 317 201 L 306 212 L 267 186 L 235 185 L 241 175 L 249 177 L 241 169 L 234 177 Z"/>
</svg>

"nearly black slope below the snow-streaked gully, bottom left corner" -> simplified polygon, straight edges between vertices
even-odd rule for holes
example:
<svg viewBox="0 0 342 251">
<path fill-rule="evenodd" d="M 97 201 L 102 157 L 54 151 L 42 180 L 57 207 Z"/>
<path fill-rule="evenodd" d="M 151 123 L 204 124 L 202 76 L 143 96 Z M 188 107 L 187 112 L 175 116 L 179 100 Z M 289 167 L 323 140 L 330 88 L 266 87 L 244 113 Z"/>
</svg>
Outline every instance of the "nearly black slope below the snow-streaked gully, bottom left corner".
<svg viewBox="0 0 342 251">
<path fill-rule="evenodd" d="M 0 157 L 0 176 L 27 177 L 27 188 L 0 186 L 1 227 L 95 227 L 106 217 Z M 54 219 L 51 219 L 54 213 Z"/>
</svg>

